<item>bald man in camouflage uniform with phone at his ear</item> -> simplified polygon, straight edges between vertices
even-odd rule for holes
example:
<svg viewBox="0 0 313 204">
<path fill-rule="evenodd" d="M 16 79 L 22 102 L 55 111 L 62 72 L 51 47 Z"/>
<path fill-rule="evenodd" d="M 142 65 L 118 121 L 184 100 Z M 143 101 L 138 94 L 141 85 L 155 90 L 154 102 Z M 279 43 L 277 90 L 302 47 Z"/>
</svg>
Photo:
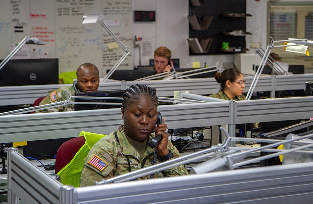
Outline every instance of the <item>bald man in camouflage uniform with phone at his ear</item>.
<svg viewBox="0 0 313 204">
<path fill-rule="evenodd" d="M 98 90 L 100 81 L 99 70 L 95 65 L 91 63 L 84 63 L 80 65 L 76 71 L 76 76 L 79 92 L 91 92 Z M 39 103 L 39 106 L 67 100 L 69 95 L 65 91 L 68 91 L 71 96 L 74 96 L 74 93 L 77 92 L 75 91 L 74 86 L 60 87 L 54 91 L 49 92 L 48 96 L 44 97 L 44 99 Z M 62 111 L 74 111 L 74 105 L 69 104 L 67 106 L 48 108 L 36 111 L 35 113 Z"/>
</svg>

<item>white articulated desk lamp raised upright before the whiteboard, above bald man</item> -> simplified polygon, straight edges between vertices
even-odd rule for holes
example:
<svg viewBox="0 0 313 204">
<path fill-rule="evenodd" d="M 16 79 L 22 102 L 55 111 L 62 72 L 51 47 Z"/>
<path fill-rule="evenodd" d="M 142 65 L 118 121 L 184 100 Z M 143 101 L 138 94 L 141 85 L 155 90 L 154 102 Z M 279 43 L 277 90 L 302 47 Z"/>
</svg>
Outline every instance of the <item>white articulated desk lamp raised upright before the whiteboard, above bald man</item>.
<svg viewBox="0 0 313 204">
<path fill-rule="evenodd" d="M 125 51 L 124 55 L 116 62 L 116 64 L 112 67 L 112 69 L 105 75 L 105 77 L 100 81 L 100 83 L 102 82 L 106 82 L 110 76 L 113 74 L 113 72 L 115 71 L 115 69 L 117 69 L 118 66 L 120 66 L 120 64 L 123 62 L 123 60 L 127 57 L 127 55 L 131 52 L 129 50 L 129 47 L 125 47 L 123 45 L 123 43 L 115 36 L 115 34 L 110 30 L 109 27 L 107 27 L 105 25 L 105 23 L 102 21 L 104 19 L 104 15 L 100 14 L 100 15 L 88 15 L 88 16 L 83 16 L 83 24 L 86 23 L 96 23 L 96 22 L 100 22 L 100 24 L 105 28 L 105 30 L 113 37 L 113 39 L 117 42 L 117 44 L 119 44 L 119 46 L 121 46 L 121 48 Z"/>
</svg>

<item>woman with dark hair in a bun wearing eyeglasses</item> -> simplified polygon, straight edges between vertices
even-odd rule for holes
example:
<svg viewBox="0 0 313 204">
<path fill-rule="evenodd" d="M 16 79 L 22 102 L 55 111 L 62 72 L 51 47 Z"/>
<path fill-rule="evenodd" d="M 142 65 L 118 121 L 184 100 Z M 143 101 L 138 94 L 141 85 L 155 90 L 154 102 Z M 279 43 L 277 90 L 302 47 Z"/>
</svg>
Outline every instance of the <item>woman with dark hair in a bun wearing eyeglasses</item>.
<svg viewBox="0 0 313 204">
<path fill-rule="evenodd" d="M 242 94 L 244 91 L 244 76 L 236 68 L 225 69 L 222 73 L 217 72 L 215 79 L 221 84 L 221 89 L 218 93 L 209 95 L 209 97 L 220 98 L 225 100 L 241 101 L 245 97 Z"/>
</svg>

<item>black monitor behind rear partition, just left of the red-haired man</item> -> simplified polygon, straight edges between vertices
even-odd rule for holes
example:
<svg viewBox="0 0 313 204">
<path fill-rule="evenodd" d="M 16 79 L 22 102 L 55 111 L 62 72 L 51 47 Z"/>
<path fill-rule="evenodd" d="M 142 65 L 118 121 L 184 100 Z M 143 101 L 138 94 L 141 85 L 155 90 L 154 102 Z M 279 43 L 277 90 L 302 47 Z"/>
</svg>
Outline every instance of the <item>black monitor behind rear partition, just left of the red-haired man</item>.
<svg viewBox="0 0 313 204">
<path fill-rule="evenodd" d="M 108 73 L 110 70 L 106 70 Z M 143 77 L 149 77 L 156 74 L 156 70 L 115 70 L 109 79 L 134 81 Z"/>
</svg>

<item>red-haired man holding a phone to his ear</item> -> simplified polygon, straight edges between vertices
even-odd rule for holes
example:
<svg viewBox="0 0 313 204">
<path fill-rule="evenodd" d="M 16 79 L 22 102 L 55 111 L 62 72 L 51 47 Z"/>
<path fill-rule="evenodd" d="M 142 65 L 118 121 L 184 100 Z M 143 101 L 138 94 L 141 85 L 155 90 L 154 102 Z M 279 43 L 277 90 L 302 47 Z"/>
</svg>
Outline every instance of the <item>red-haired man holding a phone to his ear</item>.
<svg viewBox="0 0 313 204">
<path fill-rule="evenodd" d="M 156 73 L 169 72 L 174 67 L 171 61 L 172 52 L 167 47 L 158 47 L 154 51 L 154 69 Z"/>
</svg>

